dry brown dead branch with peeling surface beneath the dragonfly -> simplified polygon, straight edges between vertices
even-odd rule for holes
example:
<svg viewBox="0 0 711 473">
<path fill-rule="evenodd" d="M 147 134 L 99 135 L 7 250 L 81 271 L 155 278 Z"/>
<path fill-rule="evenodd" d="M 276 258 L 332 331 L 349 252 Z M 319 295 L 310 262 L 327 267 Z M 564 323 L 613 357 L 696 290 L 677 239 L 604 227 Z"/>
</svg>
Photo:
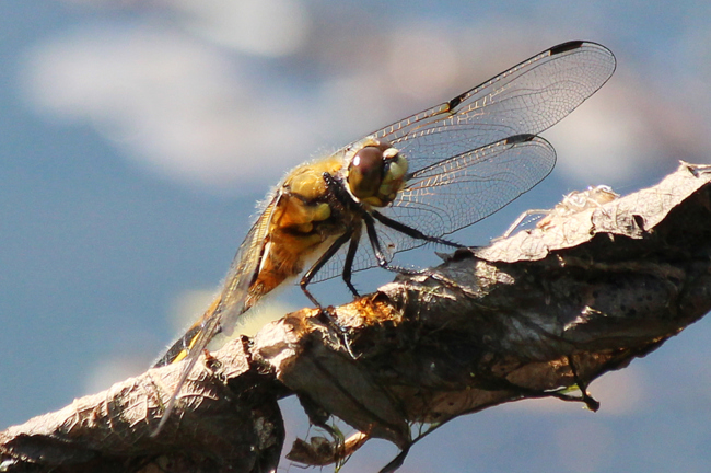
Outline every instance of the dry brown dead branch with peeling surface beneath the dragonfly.
<svg viewBox="0 0 711 473">
<path fill-rule="evenodd" d="M 313 423 L 328 430 L 335 415 L 361 432 L 301 441 L 290 458 L 308 464 L 369 437 L 407 452 L 412 425 L 527 397 L 595 409 L 592 380 L 711 308 L 709 181 L 710 168 L 683 163 L 649 189 L 398 276 L 334 309 L 356 359 L 316 311 L 288 314 L 206 356 L 156 437 L 179 365 L 75 400 L 0 432 L 0 469 L 272 471 L 284 435 L 277 401 L 291 394 Z"/>
</svg>

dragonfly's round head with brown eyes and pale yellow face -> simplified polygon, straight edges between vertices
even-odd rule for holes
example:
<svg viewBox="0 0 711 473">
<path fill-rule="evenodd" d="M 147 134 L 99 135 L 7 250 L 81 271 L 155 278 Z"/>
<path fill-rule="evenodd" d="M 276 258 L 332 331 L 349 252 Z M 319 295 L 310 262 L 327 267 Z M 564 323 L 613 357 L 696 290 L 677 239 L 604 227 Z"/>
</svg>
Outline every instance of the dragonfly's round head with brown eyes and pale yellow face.
<svg viewBox="0 0 711 473">
<path fill-rule="evenodd" d="M 405 184 L 407 160 L 385 140 L 366 138 L 348 165 L 348 187 L 353 196 L 375 207 L 385 207 Z"/>
</svg>

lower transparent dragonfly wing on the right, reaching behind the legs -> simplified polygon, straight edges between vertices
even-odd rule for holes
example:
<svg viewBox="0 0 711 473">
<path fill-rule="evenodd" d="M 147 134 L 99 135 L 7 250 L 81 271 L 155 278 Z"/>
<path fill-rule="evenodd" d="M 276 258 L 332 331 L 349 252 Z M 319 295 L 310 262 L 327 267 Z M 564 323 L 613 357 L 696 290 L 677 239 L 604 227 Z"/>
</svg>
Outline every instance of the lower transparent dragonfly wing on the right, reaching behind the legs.
<svg viewBox="0 0 711 473">
<path fill-rule="evenodd" d="M 556 164 L 556 150 L 544 138 L 518 135 L 442 160 L 412 173 L 392 206 L 381 210 L 430 236 L 444 236 L 496 212 L 544 180 Z M 375 222 L 381 249 L 388 261 L 403 251 L 427 244 Z M 376 266 L 363 231 L 353 272 Z M 342 273 L 341 250 L 314 281 Z"/>
</svg>

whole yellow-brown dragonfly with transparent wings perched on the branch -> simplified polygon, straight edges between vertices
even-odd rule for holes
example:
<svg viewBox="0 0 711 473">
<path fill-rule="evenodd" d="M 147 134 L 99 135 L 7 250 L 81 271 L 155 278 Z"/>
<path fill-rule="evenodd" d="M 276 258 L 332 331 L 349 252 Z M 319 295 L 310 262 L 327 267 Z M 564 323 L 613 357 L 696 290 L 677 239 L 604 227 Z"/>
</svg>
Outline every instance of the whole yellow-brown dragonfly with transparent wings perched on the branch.
<svg viewBox="0 0 711 473">
<path fill-rule="evenodd" d="M 221 291 L 156 367 L 185 360 L 179 390 L 218 333 L 229 333 L 275 288 L 393 264 L 396 254 L 447 236 L 498 211 L 544 180 L 556 151 L 538 134 L 607 82 L 613 53 L 591 42 L 547 49 L 440 105 L 292 170 L 267 196 Z M 306 268 L 306 269 L 305 269 Z M 305 269 L 305 272 L 304 272 Z"/>
</svg>

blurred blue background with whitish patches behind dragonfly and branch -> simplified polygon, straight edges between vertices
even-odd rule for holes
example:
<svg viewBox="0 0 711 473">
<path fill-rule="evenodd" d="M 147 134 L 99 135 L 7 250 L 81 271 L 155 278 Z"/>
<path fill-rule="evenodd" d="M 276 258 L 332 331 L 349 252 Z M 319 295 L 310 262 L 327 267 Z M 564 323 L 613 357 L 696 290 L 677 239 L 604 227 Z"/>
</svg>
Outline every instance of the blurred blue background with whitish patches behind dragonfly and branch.
<svg viewBox="0 0 711 473">
<path fill-rule="evenodd" d="M 544 134 L 551 176 L 458 241 L 486 244 L 573 189 L 627 194 L 678 160 L 710 162 L 709 18 L 710 2 L 689 0 L 1 2 L 0 428 L 150 366 L 205 308 L 255 203 L 291 166 L 555 44 L 602 43 L 617 72 Z M 383 273 L 359 288 L 392 279 Z M 341 286 L 327 302 L 349 300 Z M 290 289 L 275 303 L 263 312 L 307 301 Z M 597 414 L 491 408 L 428 437 L 401 471 L 708 472 L 707 325 L 593 383 Z M 290 439 L 307 435 L 296 404 L 283 402 Z M 342 471 L 396 453 L 371 442 Z"/>
</svg>

